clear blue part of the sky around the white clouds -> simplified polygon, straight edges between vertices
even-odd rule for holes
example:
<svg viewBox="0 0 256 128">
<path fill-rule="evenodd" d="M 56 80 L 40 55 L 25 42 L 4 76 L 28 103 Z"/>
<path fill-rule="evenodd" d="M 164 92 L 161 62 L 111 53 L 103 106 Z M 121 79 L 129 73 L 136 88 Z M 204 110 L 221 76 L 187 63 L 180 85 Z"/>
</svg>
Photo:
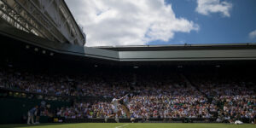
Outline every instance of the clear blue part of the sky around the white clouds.
<svg viewBox="0 0 256 128">
<path fill-rule="evenodd" d="M 148 44 L 233 44 L 256 43 L 249 33 L 256 30 L 256 0 L 232 0 L 230 17 L 220 13 L 201 15 L 195 12 L 195 0 L 166 0 L 172 3 L 177 17 L 193 20 L 200 26 L 198 32 L 177 32 L 168 42 L 152 41 Z"/>
</svg>

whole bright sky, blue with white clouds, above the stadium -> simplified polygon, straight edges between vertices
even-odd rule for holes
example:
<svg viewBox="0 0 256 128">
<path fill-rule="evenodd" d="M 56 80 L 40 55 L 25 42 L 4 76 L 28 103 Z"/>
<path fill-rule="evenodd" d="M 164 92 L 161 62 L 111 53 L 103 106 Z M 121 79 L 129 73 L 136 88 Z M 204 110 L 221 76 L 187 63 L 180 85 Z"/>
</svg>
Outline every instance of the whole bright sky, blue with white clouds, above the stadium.
<svg viewBox="0 0 256 128">
<path fill-rule="evenodd" d="M 87 46 L 256 43 L 256 0 L 66 0 Z"/>
</svg>

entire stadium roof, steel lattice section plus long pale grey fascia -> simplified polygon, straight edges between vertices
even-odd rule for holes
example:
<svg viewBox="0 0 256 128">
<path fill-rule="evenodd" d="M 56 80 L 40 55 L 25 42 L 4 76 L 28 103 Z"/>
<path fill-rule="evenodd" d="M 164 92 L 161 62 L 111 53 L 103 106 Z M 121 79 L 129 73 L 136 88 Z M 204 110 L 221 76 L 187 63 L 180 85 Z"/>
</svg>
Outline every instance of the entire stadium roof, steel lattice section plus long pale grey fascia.
<svg viewBox="0 0 256 128">
<path fill-rule="evenodd" d="M 1 0 L 1 35 L 25 46 L 61 55 L 118 62 L 248 61 L 256 44 L 184 44 L 170 46 L 84 47 L 86 35 L 64 0 Z"/>
</svg>

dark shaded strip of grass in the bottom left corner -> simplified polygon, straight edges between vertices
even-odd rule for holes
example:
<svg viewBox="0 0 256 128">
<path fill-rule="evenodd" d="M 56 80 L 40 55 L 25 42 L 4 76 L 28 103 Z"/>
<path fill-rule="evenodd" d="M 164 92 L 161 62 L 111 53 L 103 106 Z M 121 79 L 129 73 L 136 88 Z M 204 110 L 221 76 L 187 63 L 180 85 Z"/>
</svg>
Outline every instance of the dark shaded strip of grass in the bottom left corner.
<svg viewBox="0 0 256 128">
<path fill-rule="evenodd" d="M 0 128 L 25 128 L 25 127 L 54 126 L 54 125 L 70 125 L 70 124 L 79 124 L 79 123 L 44 123 L 44 124 L 37 124 L 37 125 L 5 124 L 5 125 L 0 125 Z"/>
</svg>

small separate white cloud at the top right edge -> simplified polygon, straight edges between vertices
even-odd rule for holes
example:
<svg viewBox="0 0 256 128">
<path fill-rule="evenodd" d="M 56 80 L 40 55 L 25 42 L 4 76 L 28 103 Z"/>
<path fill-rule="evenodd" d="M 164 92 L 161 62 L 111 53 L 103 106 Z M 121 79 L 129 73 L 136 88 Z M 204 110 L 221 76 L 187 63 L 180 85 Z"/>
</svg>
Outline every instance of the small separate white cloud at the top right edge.
<svg viewBox="0 0 256 128">
<path fill-rule="evenodd" d="M 221 2 L 220 0 L 197 0 L 196 12 L 201 15 L 210 15 L 210 13 L 221 13 L 226 17 L 230 17 L 230 9 L 232 3 Z"/>
</svg>

